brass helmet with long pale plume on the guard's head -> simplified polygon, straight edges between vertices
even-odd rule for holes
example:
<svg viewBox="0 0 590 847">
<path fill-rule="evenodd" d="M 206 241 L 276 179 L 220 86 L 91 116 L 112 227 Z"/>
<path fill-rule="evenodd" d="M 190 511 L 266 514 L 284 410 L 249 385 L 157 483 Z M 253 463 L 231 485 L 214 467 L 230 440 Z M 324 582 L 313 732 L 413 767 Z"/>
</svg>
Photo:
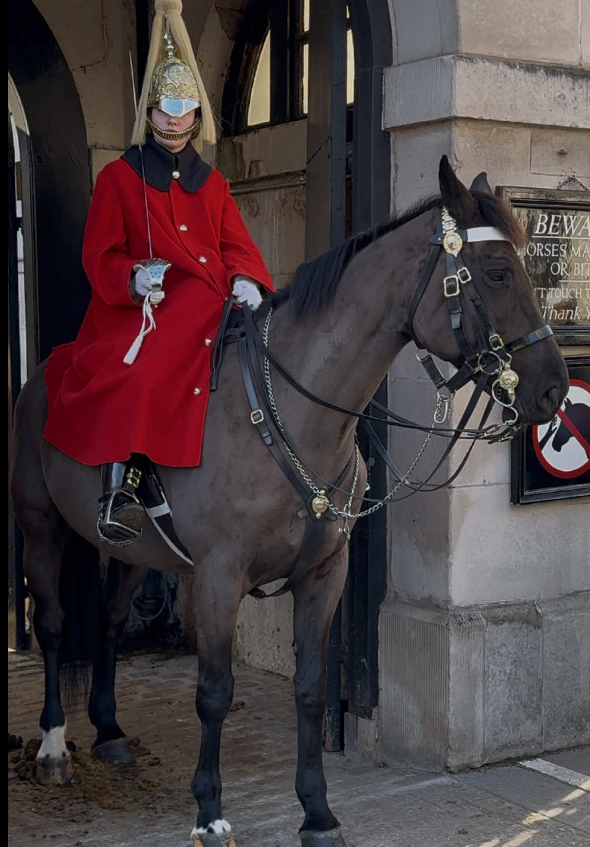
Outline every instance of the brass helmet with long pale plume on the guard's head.
<svg viewBox="0 0 590 847">
<path fill-rule="evenodd" d="M 147 126 L 163 138 L 190 136 L 196 139 L 197 149 L 201 149 L 203 141 L 215 144 L 212 110 L 180 14 L 182 3 L 180 0 L 155 0 L 154 10 L 150 50 L 131 143 L 145 143 Z M 177 118 L 195 109 L 196 119 L 187 130 L 166 132 L 156 127 L 147 115 L 151 107 Z"/>
</svg>

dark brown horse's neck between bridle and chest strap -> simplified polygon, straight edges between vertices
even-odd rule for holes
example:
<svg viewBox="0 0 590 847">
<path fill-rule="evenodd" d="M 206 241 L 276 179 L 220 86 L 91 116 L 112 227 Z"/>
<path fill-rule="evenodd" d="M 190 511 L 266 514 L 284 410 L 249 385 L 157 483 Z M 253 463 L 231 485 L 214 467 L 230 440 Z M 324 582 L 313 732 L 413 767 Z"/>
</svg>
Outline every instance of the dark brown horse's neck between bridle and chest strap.
<svg viewBox="0 0 590 847">
<path fill-rule="evenodd" d="M 423 213 L 357 254 L 333 306 L 299 320 L 286 306 L 273 316 L 269 346 L 302 385 L 341 407 L 361 412 L 367 406 L 407 342 L 404 329 L 435 215 Z M 273 381 L 285 429 L 302 449 L 350 450 L 354 418 L 296 396 L 278 376 Z"/>
</svg>

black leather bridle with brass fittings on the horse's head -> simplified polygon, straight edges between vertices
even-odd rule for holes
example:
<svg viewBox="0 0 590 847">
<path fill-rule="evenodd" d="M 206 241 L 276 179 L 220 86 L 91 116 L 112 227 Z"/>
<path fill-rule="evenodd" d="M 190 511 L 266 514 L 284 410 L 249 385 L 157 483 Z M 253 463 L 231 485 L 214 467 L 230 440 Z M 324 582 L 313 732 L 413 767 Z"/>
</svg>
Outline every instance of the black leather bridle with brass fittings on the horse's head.
<svg viewBox="0 0 590 847">
<path fill-rule="evenodd" d="M 516 386 L 519 383 L 518 374 L 512 368 L 512 353 L 520 350 L 521 347 L 553 335 L 552 330 L 548 324 L 545 324 L 519 339 L 505 343 L 494 328 L 488 310 L 477 294 L 471 274 L 460 257 L 460 251 L 466 241 L 508 241 L 503 232 L 494 226 L 475 226 L 460 230 L 449 210 L 443 206 L 437 229 L 430 241 L 433 244 L 433 251 L 411 303 L 409 325 L 411 335 L 419 348 L 416 351 L 416 357 L 426 369 L 438 391 L 439 403 L 435 416 L 437 423 L 444 422 L 449 401 L 455 391 L 479 375 L 477 385 L 481 385 L 480 393 L 488 381 L 496 377 L 491 386 L 491 396 L 500 406 L 512 413 L 512 418 L 505 421 L 508 428 L 512 429 L 518 421 L 518 412 L 514 404 Z M 444 248 L 447 263 L 447 273 L 443 280 L 444 300 L 449 312 L 450 325 L 463 356 L 463 363 L 450 379 L 444 379 L 432 355 L 424 349 L 414 331 L 416 309 L 433 274 L 440 247 Z M 465 317 L 463 301 L 466 306 L 465 314 L 471 313 L 470 324 L 476 339 L 475 347 L 466 337 L 463 325 Z"/>
</svg>

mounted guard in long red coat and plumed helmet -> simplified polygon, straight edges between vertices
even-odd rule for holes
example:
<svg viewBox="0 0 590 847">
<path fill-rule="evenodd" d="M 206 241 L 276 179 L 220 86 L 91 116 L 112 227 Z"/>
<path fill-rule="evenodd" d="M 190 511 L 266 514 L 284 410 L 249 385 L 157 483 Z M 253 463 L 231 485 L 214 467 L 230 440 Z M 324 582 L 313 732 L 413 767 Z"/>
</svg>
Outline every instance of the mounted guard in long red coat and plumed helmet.
<svg viewBox="0 0 590 847">
<path fill-rule="evenodd" d="M 181 9 L 155 2 L 133 146 L 98 174 L 86 221 L 91 302 L 76 340 L 47 363 L 44 437 L 102 465 L 97 527 L 111 545 L 141 534 L 131 457 L 201 462 L 225 302 L 256 309 L 260 288 L 273 291 L 228 182 L 199 155 L 215 144 L 215 125 Z"/>
</svg>

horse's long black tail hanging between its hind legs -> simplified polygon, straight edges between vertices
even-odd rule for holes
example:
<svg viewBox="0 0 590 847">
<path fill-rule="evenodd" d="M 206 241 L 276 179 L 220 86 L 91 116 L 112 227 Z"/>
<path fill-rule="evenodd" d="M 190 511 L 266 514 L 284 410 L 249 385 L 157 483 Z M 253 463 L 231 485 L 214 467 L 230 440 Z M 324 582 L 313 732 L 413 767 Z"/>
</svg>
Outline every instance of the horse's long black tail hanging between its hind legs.
<svg viewBox="0 0 590 847">
<path fill-rule="evenodd" d="M 90 688 L 91 665 L 99 645 L 102 580 L 96 547 L 72 531 L 63 551 L 59 601 L 64 612 L 61 639 L 63 693 L 70 706 Z"/>
</svg>

